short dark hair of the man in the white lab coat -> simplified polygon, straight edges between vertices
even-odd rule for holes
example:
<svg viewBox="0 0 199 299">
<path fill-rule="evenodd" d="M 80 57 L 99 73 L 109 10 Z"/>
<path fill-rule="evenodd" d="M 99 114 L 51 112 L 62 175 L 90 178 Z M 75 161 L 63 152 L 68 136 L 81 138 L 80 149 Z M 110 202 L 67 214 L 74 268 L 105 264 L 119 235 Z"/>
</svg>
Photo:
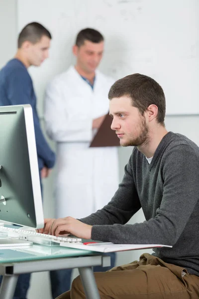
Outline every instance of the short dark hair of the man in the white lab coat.
<svg viewBox="0 0 199 299">
<path fill-rule="evenodd" d="M 99 31 L 92 28 L 86 28 L 78 33 L 75 44 L 80 47 L 84 44 L 85 40 L 99 43 L 100 41 L 103 41 L 103 39 L 103 35 L 101 35 Z"/>
</svg>

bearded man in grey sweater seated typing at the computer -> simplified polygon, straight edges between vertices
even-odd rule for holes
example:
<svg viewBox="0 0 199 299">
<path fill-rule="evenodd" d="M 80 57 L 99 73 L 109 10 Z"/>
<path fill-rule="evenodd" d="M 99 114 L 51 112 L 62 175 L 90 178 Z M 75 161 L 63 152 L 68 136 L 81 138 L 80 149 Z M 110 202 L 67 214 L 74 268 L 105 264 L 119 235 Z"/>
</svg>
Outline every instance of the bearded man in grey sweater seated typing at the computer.
<svg viewBox="0 0 199 299">
<path fill-rule="evenodd" d="M 199 298 L 199 148 L 187 137 L 167 132 L 165 95 L 152 78 L 124 77 L 112 85 L 108 97 L 112 130 L 122 146 L 135 147 L 123 180 L 111 201 L 95 214 L 81 221 L 46 219 L 44 232 L 173 246 L 95 273 L 103 299 Z M 146 221 L 126 224 L 141 207 Z M 70 298 L 86 298 L 80 277 L 58 299 Z"/>
</svg>

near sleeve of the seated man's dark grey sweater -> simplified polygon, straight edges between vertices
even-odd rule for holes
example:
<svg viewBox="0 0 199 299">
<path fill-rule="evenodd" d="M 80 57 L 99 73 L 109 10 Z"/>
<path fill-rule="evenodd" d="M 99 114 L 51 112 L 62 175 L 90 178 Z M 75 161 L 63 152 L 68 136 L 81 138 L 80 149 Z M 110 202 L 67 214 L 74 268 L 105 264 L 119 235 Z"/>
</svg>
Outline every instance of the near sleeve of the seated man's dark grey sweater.
<svg viewBox="0 0 199 299">
<path fill-rule="evenodd" d="M 162 175 L 163 196 L 154 218 L 125 225 L 121 216 L 118 218 L 119 224 L 111 221 L 99 225 L 101 223 L 96 222 L 97 225 L 92 228 L 92 239 L 124 244 L 175 245 L 199 200 L 198 155 L 187 145 L 174 147 L 165 154 Z M 126 201 L 125 192 L 121 192 L 120 196 L 126 203 L 125 211 L 128 205 L 130 210 L 132 206 Z M 121 210 L 120 213 L 124 215 Z"/>
</svg>

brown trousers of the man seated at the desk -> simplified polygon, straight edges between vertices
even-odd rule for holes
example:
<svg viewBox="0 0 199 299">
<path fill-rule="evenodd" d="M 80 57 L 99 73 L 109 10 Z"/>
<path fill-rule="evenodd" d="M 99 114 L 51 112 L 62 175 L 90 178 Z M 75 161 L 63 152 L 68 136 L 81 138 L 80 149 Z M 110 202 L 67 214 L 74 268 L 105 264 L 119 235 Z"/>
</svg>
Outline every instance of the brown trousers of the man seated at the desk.
<svg viewBox="0 0 199 299">
<path fill-rule="evenodd" d="M 139 261 L 95 273 L 101 299 L 199 299 L 199 277 L 148 253 Z M 85 299 L 80 276 L 57 299 Z M 95 298 L 94 298 L 95 299 Z"/>
</svg>

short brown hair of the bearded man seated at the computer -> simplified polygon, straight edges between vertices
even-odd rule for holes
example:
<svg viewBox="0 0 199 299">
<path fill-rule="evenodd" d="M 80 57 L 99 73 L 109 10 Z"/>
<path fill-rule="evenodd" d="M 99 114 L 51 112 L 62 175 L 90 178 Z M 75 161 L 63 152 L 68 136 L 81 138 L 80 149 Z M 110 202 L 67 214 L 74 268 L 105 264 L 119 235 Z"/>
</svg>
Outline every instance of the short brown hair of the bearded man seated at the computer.
<svg viewBox="0 0 199 299">
<path fill-rule="evenodd" d="M 165 95 L 162 87 L 152 78 L 133 74 L 117 80 L 110 88 L 108 99 L 128 96 L 132 105 L 143 115 L 149 105 L 158 107 L 157 122 L 164 126 L 166 111 Z"/>
</svg>

